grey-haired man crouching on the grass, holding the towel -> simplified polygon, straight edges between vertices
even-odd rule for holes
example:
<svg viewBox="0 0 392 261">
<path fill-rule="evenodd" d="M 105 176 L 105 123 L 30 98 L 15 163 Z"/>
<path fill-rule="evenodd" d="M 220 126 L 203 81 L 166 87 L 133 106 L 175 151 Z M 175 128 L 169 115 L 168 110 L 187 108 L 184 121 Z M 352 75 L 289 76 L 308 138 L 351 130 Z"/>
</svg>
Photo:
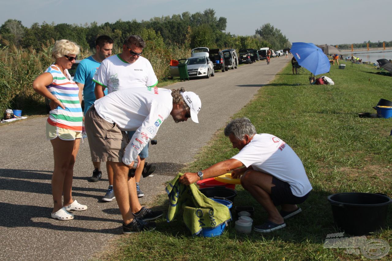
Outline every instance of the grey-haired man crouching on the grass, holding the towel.
<svg viewBox="0 0 392 261">
<path fill-rule="evenodd" d="M 284 219 L 301 212 L 297 204 L 303 203 L 312 190 L 301 160 L 278 137 L 256 134 L 256 128 L 248 118 L 230 121 L 225 136 L 240 152 L 198 173 L 185 173 L 180 182 L 189 185 L 232 171 L 232 178 L 240 178 L 241 185 L 268 213 L 265 223 L 254 226 L 254 230 L 271 232 L 285 227 Z M 280 212 L 276 206 L 281 206 Z"/>
</svg>

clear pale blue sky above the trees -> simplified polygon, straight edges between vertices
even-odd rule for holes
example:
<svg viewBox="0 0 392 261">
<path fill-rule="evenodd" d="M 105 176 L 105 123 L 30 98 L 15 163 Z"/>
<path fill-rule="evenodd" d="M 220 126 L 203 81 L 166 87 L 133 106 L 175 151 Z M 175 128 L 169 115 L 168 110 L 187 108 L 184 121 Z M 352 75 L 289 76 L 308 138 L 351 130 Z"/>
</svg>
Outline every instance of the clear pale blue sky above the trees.
<svg viewBox="0 0 392 261">
<path fill-rule="evenodd" d="M 191 14 L 212 8 L 227 18 L 227 32 L 253 35 L 270 23 L 290 42 L 351 44 L 392 40 L 392 0 L 0 0 L 0 24 L 7 19 L 55 24 L 98 24 L 154 16 Z"/>
</svg>

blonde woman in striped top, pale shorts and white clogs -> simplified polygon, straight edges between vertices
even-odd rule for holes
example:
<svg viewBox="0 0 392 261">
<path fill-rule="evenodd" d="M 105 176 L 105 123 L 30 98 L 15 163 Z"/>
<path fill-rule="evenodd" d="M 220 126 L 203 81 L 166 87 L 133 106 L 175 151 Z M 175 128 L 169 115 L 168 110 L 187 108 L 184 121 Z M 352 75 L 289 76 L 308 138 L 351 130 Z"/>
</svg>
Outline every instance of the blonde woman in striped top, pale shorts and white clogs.
<svg viewBox="0 0 392 261">
<path fill-rule="evenodd" d="M 71 79 L 68 69 L 75 63 L 79 50 L 74 42 L 56 41 L 52 50 L 54 64 L 33 82 L 34 91 L 51 100 L 46 138 L 52 143 L 54 156 L 51 216 L 58 220 L 73 219 L 69 210 L 87 209 L 72 199 L 73 167 L 82 137 L 83 112 L 80 106 L 82 92 Z"/>
</svg>

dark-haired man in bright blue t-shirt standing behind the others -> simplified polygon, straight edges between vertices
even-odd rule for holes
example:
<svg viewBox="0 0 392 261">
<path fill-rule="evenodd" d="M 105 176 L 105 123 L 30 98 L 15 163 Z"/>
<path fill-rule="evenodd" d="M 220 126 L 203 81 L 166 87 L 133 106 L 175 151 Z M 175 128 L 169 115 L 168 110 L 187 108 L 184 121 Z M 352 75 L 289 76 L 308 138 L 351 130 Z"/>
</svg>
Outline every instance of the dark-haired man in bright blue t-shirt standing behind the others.
<svg viewBox="0 0 392 261">
<path fill-rule="evenodd" d="M 113 50 L 113 40 L 107 35 L 98 36 L 95 40 L 95 54 L 83 59 L 75 72 L 74 81 L 79 86 L 79 89 L 83 90 L 84 97 L 84 115 L 90 109 L 90 107 L 94 104 L 95 93 L 95 83 L 93 82 L 93 77 L 101 65 L 101 62 L 105 60 L 107 57 L 111 56 Z M 107 93 L 106 93 L 107 94 Z M 89 178 L 90 182 L 96 182 L 102 177 L 101 172 L 101 163 L 93 162 L 94 171 L 93 176 Z M 106 166 L 107 169 L 107 177 L 109 179 L 109 188 L 105 196 L 103 196 L 103 201 L 112 201 L 115 196 L 113 192 L 113 170 L 110 167 Z"/>
</svg>

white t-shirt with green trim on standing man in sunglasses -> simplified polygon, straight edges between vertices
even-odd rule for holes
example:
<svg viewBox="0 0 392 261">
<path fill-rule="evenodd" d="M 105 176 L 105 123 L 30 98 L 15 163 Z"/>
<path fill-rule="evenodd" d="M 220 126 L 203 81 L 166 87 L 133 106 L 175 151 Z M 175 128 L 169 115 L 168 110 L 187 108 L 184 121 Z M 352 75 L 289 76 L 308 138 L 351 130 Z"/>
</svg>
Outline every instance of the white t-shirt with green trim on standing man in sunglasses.
<svg viewBox="0 0 392 261">
<path fill-rule="evenodd" d="M 106 87 L 107 92 L 111 93 L 135 87 L 153 88 L 158 79 L 146 58 L 140 56 L 136 62 L 127 63 L 117 54 L 103 60 L 93 82 Z"/>
</svg>

